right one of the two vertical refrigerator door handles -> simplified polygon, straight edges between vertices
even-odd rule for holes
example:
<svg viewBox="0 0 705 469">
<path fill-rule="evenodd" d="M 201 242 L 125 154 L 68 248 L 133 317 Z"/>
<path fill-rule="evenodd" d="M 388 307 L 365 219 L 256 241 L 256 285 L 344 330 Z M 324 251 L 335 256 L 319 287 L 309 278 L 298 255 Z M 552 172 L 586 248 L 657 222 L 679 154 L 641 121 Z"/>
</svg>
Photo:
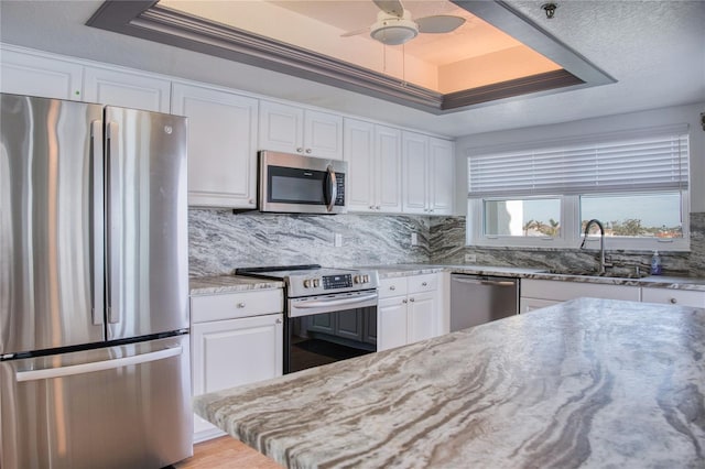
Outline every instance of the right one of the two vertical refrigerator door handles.
<svg viewBox="0 0 705 469">
<path fill-rule="evenodd" d="M 116 293 L 118 283 L 120 282 L 120 222 L 121 214 L 119 212 L 121 204 L 120 198 L 120 173 L 117 171 L 119 166 L 117 159 L 120 155 L 119 148 L 119 126 L 117 122 L 108 122 L 106 124 L 106 165 L 108 190 L 107 194 L 107 214 L 108 214 L 108 227 L 107 242 L 108 242 L 108 269 L 106 271 L 106 285 L 107 285 L 107 308 L 108 308 L 108 323 L 117 324 L 120 321 L 120 302 Z"/>
</svg>

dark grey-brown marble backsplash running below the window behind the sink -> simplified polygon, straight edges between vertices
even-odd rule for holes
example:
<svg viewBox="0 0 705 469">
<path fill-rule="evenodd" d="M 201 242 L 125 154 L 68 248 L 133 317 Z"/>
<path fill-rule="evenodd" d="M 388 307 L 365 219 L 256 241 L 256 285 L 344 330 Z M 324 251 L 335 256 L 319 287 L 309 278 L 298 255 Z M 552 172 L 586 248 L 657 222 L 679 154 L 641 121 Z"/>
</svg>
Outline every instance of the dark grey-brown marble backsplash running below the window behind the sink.
<svg viewBox="0 0 705 469">
<path fill-rule="evenodd" d="M 597 254 L 579 249 L 475 248 L 465 246 L 465 217 L 431 220 L 431 262 L 464 264 L 465 254 L 475 254 L 484 265 L 525 266 L 534 269 L 594 269 Z M 616 266 L 648 271 L 650 252 L 610 250 Z M 691 214 L 691 252 L 662 252 L 665 275 L 705 276 L 705 212 Z"/>
</svg>

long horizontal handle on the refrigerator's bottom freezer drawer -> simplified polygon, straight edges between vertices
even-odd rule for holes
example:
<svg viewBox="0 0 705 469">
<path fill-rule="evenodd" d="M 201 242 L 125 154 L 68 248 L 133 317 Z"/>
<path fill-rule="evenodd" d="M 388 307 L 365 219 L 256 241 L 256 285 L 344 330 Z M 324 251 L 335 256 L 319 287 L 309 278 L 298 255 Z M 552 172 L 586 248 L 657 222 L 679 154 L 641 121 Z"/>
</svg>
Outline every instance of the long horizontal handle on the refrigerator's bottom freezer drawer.
<svg viewBox="0 0 705 469">
<path fill-rule="evenodd" d="M 94 371 L 115 370 L 117 368 L 129 367 L 132 364 L 147 363 L 150 361 L 164 360 L 165 358 L 176 357 L 183 351 L 182 346 L 170 347 L 149 353 L 135 355 L 131 357 L 116 358 L 112 360 L 95 361 L 91 363 L 70 364 L 68 367 L 46 368 L 40 370 L 18 371 L 15 379 L 18 382 L 48 380 L 52 378 L 64 378 L 74 374 L 85 374 Z"/>
</svg>

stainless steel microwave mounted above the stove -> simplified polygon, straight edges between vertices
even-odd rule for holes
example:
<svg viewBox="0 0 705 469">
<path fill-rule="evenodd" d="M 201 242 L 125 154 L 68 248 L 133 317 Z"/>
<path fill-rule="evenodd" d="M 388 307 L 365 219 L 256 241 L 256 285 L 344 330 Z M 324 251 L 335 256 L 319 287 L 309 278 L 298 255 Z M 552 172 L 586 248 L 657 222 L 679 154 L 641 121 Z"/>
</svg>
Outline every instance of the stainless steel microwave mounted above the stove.
<svg viewBox="0 0 705 469">
<path fill-rule="evenodd" d="M 345 214 L 348 164 L 261 151 L 259 209 L 288 214 Z"/>
</svg>

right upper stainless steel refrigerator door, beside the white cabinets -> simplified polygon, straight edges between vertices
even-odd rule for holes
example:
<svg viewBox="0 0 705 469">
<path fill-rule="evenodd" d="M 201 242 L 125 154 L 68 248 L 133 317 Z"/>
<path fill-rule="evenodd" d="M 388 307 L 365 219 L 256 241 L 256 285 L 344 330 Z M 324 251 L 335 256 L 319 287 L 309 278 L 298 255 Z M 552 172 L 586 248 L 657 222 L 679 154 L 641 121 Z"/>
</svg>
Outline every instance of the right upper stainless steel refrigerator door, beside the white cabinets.
<svg viewBox="0 0 705 469">
<path fill-rule="evenodd" d="M 106 108 L 108 339 L 188 327 L 186 120 Z"/>
</svg>

